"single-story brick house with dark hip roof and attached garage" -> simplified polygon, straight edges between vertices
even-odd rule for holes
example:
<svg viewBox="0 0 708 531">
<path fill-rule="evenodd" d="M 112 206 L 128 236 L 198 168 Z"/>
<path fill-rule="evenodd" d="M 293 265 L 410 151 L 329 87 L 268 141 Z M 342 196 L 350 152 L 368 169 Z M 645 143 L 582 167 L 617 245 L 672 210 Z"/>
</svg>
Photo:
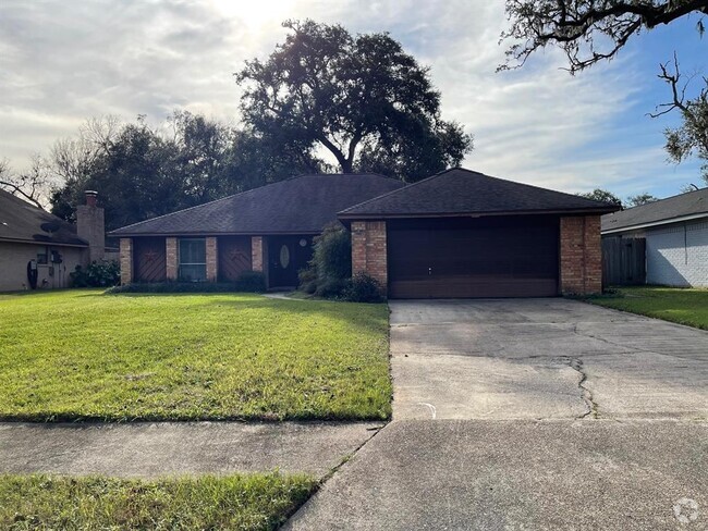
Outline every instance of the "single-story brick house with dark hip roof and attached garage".
<svg viewBox="0 0 708 531">
<path fill-rule="evenodd" d="M 305 175 L 113 231 L 122 282 L 233 280 L 293 287 L 312 238 L 339 220 L 352 269 L 392 298 L 601 291 L 600 215 L 617 207 L 453 169 L 412 185 Z"/>
</svg>

